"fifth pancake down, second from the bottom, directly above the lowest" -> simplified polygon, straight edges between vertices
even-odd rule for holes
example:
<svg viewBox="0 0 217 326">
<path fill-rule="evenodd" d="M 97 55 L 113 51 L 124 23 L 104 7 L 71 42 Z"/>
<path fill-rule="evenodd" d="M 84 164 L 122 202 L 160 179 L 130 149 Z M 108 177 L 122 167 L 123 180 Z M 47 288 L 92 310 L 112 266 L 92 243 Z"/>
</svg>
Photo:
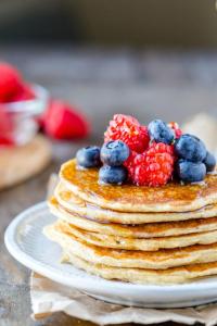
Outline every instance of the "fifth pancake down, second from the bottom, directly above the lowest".
<svg viewBox="0 0 217 326">
<path fill-rule="evenodd" d="M 166 269 L 217 261 L 217 243 L 195 244 L 187 248 L 158 251 L 128 251 L 87 243 L 80 238 L 65 233 L 59 223 L 44 227 L 43 233 L 49 239 L 58 242 L 63 250 L 69 250 L 73 255 L 77 255 L 93 264 L 128 268 Z"/>
</svg>

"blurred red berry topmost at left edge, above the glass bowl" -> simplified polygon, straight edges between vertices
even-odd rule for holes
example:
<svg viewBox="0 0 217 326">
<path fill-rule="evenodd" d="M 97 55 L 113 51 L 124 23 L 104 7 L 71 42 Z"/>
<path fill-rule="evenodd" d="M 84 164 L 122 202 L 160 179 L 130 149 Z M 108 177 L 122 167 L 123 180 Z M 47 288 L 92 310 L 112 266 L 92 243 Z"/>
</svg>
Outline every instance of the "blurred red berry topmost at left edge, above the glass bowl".
<svg viewBox="0 0 217 326">
<path fill-rule="evenodd" d="M 11 102 L 22 83 L 22 76 L 15 67 L 0 62 L 0 102 Z"/>
</svg>

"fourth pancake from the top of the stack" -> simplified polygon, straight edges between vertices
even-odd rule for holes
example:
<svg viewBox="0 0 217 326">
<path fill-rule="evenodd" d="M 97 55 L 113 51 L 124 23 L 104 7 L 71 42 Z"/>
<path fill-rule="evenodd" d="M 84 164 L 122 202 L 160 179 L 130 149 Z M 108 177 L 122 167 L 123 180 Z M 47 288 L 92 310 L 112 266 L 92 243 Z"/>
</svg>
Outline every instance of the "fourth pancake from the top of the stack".
<svg viewBox="0 0 217 326">
<path fill-rule="evenodd" d="M 86 231 L 61 220 L 58 222 L 58 227 L 61 228 L 63 233 L 73 235 L 87 243 L 125 250 L 156 251 L 159 249 L 173 249 L 217 242 L 217 230 L 179 237 L 137 239 Z"/>
</svg>

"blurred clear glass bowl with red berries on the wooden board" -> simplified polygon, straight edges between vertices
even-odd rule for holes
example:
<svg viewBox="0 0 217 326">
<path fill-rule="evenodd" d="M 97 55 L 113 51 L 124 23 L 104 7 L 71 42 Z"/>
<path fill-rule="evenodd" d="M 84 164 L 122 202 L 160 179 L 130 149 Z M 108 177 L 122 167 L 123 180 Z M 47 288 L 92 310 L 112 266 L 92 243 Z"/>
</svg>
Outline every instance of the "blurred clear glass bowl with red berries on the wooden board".
<svg viewBox="0 0 217 326">
<path fill-rule="evenodd" d="M 36 98 L 0 104 L 0 146 L 22 146 L 38 130 L 37 115 L 48 105 L 49 92 L 39 85 L 30 85 Z"/>
</svg>

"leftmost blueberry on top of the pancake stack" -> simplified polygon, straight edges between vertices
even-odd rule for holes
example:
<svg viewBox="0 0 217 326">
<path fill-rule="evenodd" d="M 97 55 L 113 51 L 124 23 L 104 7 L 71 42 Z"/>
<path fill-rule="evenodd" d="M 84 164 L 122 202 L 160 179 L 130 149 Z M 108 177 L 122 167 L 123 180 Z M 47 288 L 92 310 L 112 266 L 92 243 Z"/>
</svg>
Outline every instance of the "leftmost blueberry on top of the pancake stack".
<svg viewBox="0 0 217 326">
<path fill-rule="evenodd" d="M 82 167 L 100 166 L 100 148 L 97 146 L 81 148 L 77 151 L 76 159 L 77 164 Z"/>
</svg>

